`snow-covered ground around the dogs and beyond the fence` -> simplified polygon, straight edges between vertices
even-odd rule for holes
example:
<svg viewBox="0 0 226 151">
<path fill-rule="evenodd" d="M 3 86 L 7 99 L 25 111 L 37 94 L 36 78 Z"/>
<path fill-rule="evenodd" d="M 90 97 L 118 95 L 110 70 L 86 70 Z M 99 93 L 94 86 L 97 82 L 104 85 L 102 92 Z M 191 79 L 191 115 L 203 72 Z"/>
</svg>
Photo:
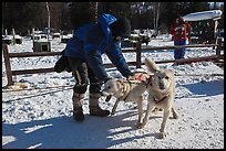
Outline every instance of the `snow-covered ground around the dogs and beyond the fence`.
<svg viewBox="0 0 226 151">
<path fill-rule="evenodd" d="M 148 46 L 173 45 L 164 36 L 152 40 Z M 51 41 L 51 48 L 60 52 L 65 44 Z M 145 47 L 145 44 L 143 45 Z M 10 52 L 32 52 L 32 41 L 9 45 Z M 186 57 L 215 54 L 212 47 L 189 48 Z M 126 61 L 135 61 L 135 53 L 124 54 Z M 142 53 L 154 61 L 173 60 L 173 50 Z M 59 56 L 11 58 L 12 69 L 53 67 Z M 109 58 L 103 55 L 103 61 Z M 212 62 L 179 66 L 161 64 L 176 75 L 175 105 L 178 119 L 170 119 L 165 139 L 158 138 L 162 112 L 152 115 L 145 128 L 136 129 L 135 103 L 119 104 L 115 116 L 105 118 L 89 116 L 85 94 L 85 121 L 72 118 L 71 73 L 20 75 L 17 82 L 29 84 L 32 90 L 10 91 L 2 56 L 2 148 L 3 149 L 224 149 L 224 71 Z M 145 66 L 142 66 L 145 69 Z M 135 67 L 131 67 L 135 69 Z M 113 77 L 122 77 L 115 69 L 107 69 Z M 214 75 L 215 74 L 215 75 Z M 56 86 L 64 86 L 54 88 Z M 49 87 L 49 88 L 48 88 Z M 44 89 L 47 88 L 47 89 Z M 8 91 L 7 91 L 8 90 Z M 100 100 L 104 109 L 112 109 L 115 99 Z M 143 104 L 146 107 L 146 101 Z"/>
</svg>

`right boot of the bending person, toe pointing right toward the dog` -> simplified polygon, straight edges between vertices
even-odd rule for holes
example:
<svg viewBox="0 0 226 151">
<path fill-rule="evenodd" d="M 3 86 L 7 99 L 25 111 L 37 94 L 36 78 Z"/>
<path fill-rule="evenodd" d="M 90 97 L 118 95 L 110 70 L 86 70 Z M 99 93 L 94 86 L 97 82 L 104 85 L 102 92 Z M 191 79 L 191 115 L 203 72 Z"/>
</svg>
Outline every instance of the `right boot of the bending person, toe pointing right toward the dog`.
<svg viewBox="0 0 226 151">
<path fill-rule="evenodd" d="M 100 94 L 90 94 L 89 108 L 90 116 L 106 117 L 110 115 L 109 110 L 103 110 L 99 107 Z"/>
</svg>

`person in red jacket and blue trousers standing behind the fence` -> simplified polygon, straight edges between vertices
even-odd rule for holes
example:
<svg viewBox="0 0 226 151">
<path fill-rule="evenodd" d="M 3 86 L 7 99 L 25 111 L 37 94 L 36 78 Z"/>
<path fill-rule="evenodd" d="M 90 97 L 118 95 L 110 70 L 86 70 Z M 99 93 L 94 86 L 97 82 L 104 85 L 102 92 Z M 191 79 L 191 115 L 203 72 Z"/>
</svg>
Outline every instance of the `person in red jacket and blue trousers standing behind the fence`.
<svg viewBox="0 0 226 151">
<path fill-rule="evenodd" d="M 186 45 L 187 41 L 191 44 L 191 24 L 185 22 L 182 17 L 177 18 L 175 23 L 171 25 L 171 32 L 174 40 L 174 45 Z M 175 48 L 174 58 L 184 58 L 185 48 Z"/>
</svg>

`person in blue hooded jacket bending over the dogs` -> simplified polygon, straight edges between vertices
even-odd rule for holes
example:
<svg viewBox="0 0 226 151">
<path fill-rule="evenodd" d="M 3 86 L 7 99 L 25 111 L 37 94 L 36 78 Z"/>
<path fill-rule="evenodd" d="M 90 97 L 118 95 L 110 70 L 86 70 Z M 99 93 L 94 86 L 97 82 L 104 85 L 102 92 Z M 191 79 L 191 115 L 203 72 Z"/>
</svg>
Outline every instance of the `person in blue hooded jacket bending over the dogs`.
<svg viewBox="0 0 226 151">
<path fill-rule="evenodd" d="M 88 23 L 79 28 L 73 37 L 69 40 L 63 51 L 68 65 L 75 78 L 73 87 L 73 117 L 76 121 L 83 121 L 84 94 L 90 82 L 89 109 L 91 116 L 105 117 L 109 110 L 99 106 L 102 84 L 110 79 L 102 61 L 102 54 L 106 54 L 124 77 L 130 77 L 130 71 L 123 57 L 120 43 L 131 34 L 131 24 L 126 18 L 116 19 L 112 14 L 103 13 L 97 23 Z"/>
</svg>

